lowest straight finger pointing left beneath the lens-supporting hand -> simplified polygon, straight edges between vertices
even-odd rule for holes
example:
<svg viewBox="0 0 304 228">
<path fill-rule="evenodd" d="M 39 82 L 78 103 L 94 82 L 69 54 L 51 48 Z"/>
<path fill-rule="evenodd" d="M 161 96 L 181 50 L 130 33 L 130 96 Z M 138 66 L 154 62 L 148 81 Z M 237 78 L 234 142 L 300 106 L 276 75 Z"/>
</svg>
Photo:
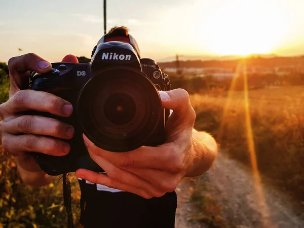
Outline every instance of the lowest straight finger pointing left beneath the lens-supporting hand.
<svg viewBox="0 0 304 228">
<path fill-rule="evenodd" d="M 109 176 L 102 173 L 96 173 L 91 170 L 79 169 L 76 171 L 76 176 L 85 180 L 88 180 L 92 183 L 98 183 L 105 185 L 107 187 L 119 189 L 121 191 L 129 192 L 141 196 L 145 199 L 151 199 L 153 196 L 147 194 L 143 189 L 133 187 L 118 181 L 113 181 Z"/>
</svg>

